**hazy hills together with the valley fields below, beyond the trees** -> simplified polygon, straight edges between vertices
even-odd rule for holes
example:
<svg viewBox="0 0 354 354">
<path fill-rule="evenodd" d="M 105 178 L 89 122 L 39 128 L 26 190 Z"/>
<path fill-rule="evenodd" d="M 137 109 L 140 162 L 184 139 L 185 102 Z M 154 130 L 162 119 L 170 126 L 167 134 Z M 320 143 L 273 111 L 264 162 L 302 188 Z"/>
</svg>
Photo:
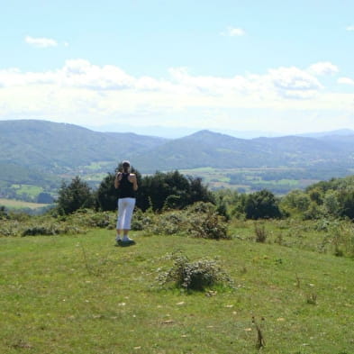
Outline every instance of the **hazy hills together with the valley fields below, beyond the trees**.
<svg viewBox="0 0 354 354">
<path fill-rule="evenodd" d="M 132 132 L 94 132 L 66 123 L 3 121 L 0 195 L 6 196 L 4 190 L 16 183 L 47 186 L 43 189 L 53 191 L 62 178 L 75 175 L 85 176 L 95 186 L 122 159 L 130 159 L 143 174 L 192 168 L 233 169 L 225 172 L 233 184 L 248 185 L 252 179 L 254 188 L 267 186 L 259 185 L 259 178 L 264 183 L 272 178 L 275 183 L 286 178 L 300 183 L 354 172 L 354 132 L 311 135 L 246 140 L 200 131 L 168 140 Z M 245 168 L 263 168 L 268 176 L 238 175 Z M 270 178 L 270 168 L 282 171 Z M 286 175 L 290 169 L 293 177 Z M 282 190 L 305 186 L 307 182 L 289 183 Z"/>
</svg>

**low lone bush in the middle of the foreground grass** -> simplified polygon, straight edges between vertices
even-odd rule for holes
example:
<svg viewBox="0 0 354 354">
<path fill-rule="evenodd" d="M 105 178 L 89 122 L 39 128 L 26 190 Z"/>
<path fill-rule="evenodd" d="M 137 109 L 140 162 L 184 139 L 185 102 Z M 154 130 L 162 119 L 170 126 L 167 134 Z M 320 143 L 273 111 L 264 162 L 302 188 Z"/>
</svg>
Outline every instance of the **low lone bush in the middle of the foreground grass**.
<svg viewBox="0 0 354 354">
<path fill-rule="evenodd" d="M 231 286 L 231 277 L 225 273 L 214 259 L 198 259 L 191 262 L 182 252 L 168 256 L 173 266 L 160 272 L 158 281 L 161 286 L 173 282 L 187 291 L 204 291 L 215 285 Z"/>
</svg>

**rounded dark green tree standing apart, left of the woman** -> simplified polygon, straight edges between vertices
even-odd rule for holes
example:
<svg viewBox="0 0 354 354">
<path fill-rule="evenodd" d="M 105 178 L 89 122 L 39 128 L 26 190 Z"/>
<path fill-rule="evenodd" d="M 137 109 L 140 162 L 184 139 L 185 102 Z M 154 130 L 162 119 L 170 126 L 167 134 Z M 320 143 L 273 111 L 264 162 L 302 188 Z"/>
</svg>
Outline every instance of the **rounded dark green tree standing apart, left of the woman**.
<svg viewBox="0 0 354 354">
<path fill-rule="evenodd" d="M 73 178 L 70 184 L 62 183 L 57 200 L 59 213 L 74 213 L 78 209 L 93 207 L 94 203 L 91 188 L 80 177 Z"/>
</svg>

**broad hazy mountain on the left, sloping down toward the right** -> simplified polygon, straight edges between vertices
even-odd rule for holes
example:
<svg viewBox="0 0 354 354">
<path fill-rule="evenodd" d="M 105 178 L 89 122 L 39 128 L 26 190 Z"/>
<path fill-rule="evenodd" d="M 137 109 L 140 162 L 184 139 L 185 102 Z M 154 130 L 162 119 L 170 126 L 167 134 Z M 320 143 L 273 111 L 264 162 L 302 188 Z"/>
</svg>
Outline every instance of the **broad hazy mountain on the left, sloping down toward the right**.
<svg viewBox="0 0 354 354">
<path fill-rule="evenodd" d="M 165 141 L 133 133 L 93 132 L 67 123 L 3 121 L 0 163 L 58 172 L 97 161 L 129 159 L 134 152 L 156 148 Z"/>
</svg>

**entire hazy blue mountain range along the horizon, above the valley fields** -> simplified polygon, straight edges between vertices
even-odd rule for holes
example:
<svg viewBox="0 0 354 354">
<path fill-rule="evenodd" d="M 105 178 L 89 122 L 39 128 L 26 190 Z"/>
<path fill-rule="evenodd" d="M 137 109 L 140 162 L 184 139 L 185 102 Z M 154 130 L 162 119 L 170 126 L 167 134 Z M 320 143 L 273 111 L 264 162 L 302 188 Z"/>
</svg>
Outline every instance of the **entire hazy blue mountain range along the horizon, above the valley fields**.
<svg viewBox="0 0 354 354">
<path fill-rule="evenodd" d="M 354 132 L 239 139 L 210 131 L 179 139 L 94 132 L 48 121 L 0 122 L 0 167 L 15 164 L 63 173 L 91 163 L 131 159 L 142 173 L 188 168 L 260 168 L 331 165 L 354 168 Z"/>
</svg>

